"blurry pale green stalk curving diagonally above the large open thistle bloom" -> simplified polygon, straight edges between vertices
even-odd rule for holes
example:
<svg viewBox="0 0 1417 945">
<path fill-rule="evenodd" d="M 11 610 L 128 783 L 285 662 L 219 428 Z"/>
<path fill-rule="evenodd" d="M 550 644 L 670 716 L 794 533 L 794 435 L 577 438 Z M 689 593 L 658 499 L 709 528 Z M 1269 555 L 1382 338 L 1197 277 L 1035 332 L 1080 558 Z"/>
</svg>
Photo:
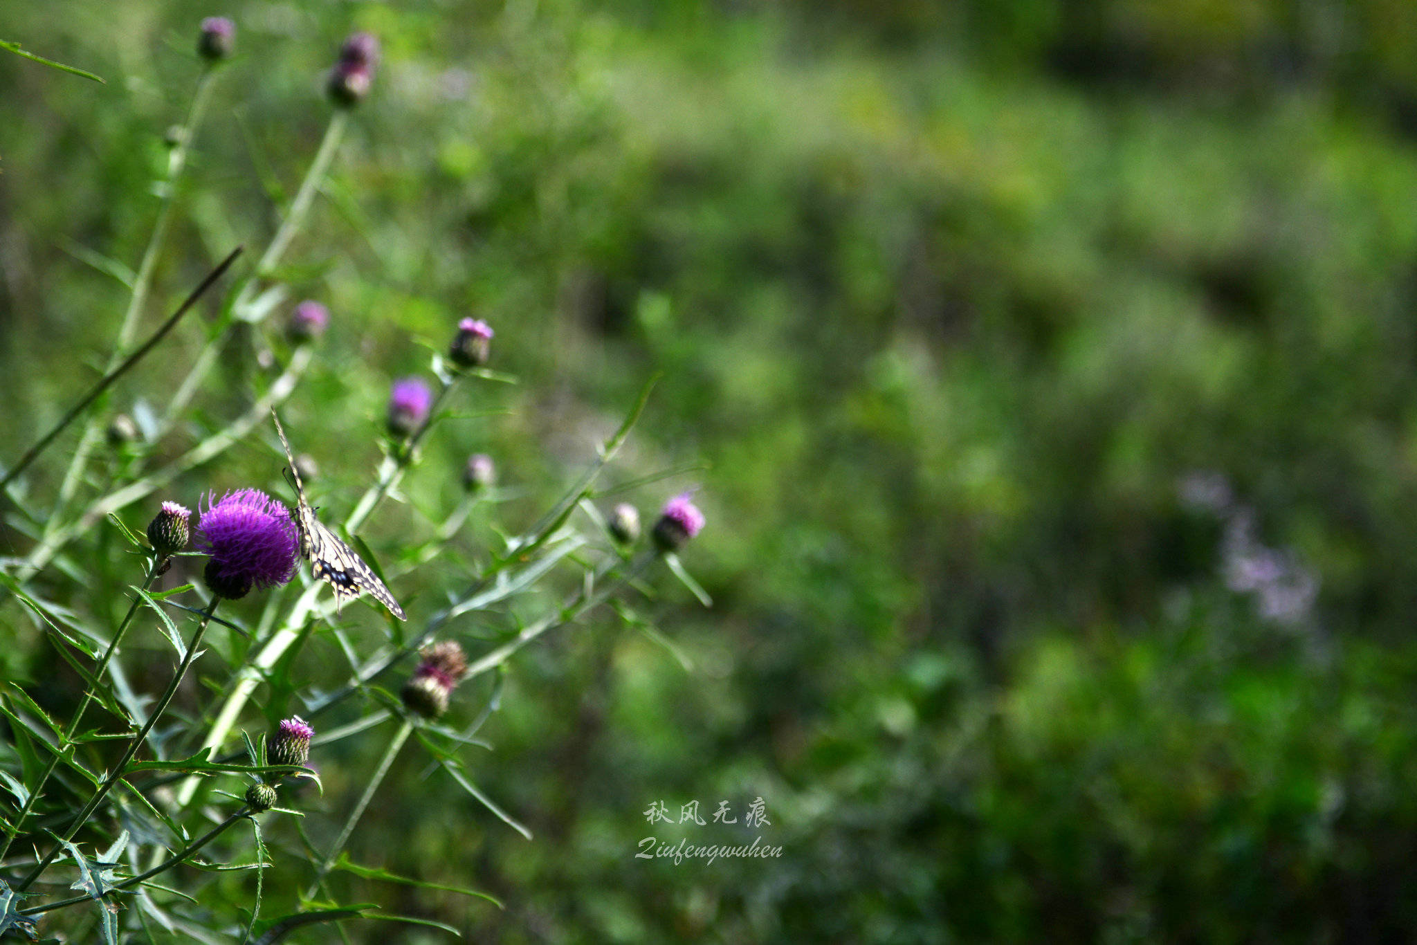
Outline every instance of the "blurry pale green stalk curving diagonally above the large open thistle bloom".
<svg viewBox="0 0 1417 945">
<path fill-rule="evenodd" d="M 286 366 L 285 373 L 282 373 L 281 377 L 271 384 L 265 395 L 258 398 L 245 414 L 207 439 L 201 441 L 162 469 L 130 482 L 122 489 L 115 489 L 106 496 L 95 499 L 78 519 L 67 526 L 55 528 L 48 538 L 37 544 L 34 550 L 30 551 L 30 555 L 26 558 L 18 571 L 21 579 L 28 579 L 37 571 L 44 568 L 54 560 L 54 555 L 58 554 L 64 545 L 102 521 L 109 513 L 118 511 L 119 509 L 157 492 L 188 469 L 200 466 L 201 463 L 208 462 L 230 449 L 242 436 L 249 434 L 265 417 L 269 417 L 273 405 L 285 402 L 285 400 L 295 390 L 296 383 L 310 366 L 312 358 L 313 353 L 310 351 L 310 347 L 300 346 L 295 350 L 295 354 L 290 356 L 290 363 Z"/>
</svg>

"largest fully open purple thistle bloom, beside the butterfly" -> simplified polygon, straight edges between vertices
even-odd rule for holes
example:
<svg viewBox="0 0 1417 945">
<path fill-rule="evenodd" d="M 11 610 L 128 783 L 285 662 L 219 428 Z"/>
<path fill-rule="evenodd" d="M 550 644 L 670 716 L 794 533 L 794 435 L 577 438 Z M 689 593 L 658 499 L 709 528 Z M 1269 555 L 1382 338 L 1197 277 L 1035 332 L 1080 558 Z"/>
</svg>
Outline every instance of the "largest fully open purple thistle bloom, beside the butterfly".
<svg viewBox="0 0 1417 945">
<path fill-rule="evenodd" d="M 295 574 L 296 533 L 290 510 L 259 489 L 228 492 L 197 526 L 198 551 L 211 555 L 207 585 L 220 596 L 245 596 L 252 585 L 285 584 Z"/>
</svg>

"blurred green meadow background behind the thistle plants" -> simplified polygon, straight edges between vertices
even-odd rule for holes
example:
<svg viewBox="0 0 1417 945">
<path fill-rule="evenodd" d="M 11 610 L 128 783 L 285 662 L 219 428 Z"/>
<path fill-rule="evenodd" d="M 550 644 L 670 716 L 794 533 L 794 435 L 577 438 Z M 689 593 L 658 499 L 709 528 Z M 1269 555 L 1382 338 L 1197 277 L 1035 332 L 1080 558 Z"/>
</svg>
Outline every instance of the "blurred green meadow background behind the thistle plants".
<svg viewBox="0 0 1417 945">
<path fill-rule="evenodd" d="M 88 251 L 136 265 L 213 14 L 238 57 L 159 299 L 271 232 L 339 41 L 384 44 L 283 269 L 336 319 L 288 408 L 329 506 L 468 313 L 521 383 L 411 494 L 482 449 L 524 526 L 656 371 L 614 475 L 703 465 L 633 493 L 701 486 L 714 606 L 633 601 L 693 669 L 614 621 L 548 639 L 475 762 L 534 839 L 411 761 L 354 843 L 506 908 L 363 895 L 504 942 L 1417 932 L 1417 7 L 0 0 L 108 79 L 0 57 L 0 442 L 106 357 Z M 633 859 L 743 836 L 656 800 L 760 796 L 779 859 Z"/>
</svg>

